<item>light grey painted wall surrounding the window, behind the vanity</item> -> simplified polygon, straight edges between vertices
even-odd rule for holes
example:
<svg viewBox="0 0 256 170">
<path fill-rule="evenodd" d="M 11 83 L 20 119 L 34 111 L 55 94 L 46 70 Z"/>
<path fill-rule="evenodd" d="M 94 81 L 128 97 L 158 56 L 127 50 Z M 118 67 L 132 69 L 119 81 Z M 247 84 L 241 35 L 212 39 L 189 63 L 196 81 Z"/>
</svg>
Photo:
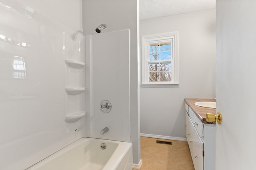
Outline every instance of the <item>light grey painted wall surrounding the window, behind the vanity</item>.
<svg viewBox="0 0 256 170">
<path fill-rule="evenodd" d="M 140 21 L 140 36 L 172 31 L 179 31 L 179 87 L 140 88 L 140 128 L 185 140 L 184 98 L 215 98 L 215 9 Z"/>
</svg>

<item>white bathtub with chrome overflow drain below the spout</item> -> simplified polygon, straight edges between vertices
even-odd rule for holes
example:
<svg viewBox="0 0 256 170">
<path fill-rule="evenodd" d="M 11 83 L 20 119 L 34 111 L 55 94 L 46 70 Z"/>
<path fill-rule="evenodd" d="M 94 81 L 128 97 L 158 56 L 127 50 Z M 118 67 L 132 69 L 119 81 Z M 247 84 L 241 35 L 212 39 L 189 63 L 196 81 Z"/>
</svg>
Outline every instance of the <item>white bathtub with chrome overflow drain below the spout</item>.
<svg viewBox="0 0 256 170">
<path fill-rule="evenodd" d="M 26 170 L 132 170 L 132 143 L 81 138 Z"/>
</svg>

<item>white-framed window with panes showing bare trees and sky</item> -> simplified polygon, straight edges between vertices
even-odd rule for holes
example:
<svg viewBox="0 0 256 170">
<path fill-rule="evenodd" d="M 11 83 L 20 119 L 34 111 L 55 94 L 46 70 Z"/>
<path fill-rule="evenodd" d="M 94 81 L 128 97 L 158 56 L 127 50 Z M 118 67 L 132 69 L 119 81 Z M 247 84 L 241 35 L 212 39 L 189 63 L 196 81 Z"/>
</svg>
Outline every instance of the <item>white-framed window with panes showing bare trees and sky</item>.
<svg viewBox="0 0 256 170">
<path fill-rule="evenodd" d="M 178 32 L 142 36 L 142 85 L 178 84 Z"/>
</svg>

